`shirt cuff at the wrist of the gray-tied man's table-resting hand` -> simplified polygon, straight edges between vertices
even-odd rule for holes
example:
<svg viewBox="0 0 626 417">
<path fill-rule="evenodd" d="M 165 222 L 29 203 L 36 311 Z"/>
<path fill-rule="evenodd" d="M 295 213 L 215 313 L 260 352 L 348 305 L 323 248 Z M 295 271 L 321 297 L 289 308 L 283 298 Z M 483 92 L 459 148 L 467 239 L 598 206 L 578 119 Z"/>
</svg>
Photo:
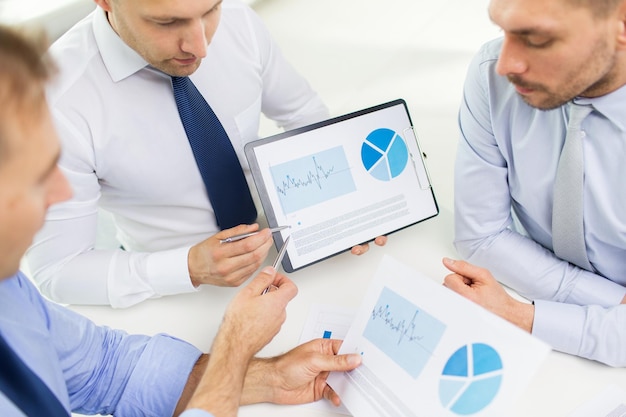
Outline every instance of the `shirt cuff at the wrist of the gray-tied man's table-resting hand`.
<svg viewBox="0 0 626 417">
<path fill-rule="evenodd" d="M 535 300 L 533 336 L 554 350 L 577 355 L 585 327 L 585 309 L 574 304 Z"/>
</svg>

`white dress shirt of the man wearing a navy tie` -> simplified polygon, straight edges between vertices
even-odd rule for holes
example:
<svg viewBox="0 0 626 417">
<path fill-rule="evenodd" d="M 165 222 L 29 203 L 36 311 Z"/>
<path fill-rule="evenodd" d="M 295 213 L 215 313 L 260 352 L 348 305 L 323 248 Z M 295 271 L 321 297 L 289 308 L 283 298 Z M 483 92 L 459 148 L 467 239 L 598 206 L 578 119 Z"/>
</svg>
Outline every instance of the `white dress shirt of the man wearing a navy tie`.
<svg viewBox="0 0 626 417">
<path fill-rule="evenodd" d="M 48 99 L 74 196 L 51 208 L 27 252 L 36 283 L 59 302 L 114 307 L 194 291 L 189 248 L 218 228 L 170 77 L 148 67 L 100 8 L 50 53 L 60 71 Z M 190 78 L 224 125 L 249 184 L 243 147 L 258 138 L 261 113 L 285 129 L 328 116 L 258 16 L 235 0 L 224 1 Z M 94 250 L 98 207 L 113 214 L 126 251 Z"/>
</svg>

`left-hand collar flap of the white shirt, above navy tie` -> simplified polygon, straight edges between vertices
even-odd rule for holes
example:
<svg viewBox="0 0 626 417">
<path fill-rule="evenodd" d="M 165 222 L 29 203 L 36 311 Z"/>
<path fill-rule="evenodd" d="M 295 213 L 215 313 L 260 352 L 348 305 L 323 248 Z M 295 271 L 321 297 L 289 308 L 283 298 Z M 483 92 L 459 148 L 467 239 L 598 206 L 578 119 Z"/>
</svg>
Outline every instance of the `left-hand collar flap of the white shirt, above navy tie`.
<svg viewBox="0 0 626 417">
<path fill-rule="evenodd" d="M 102 61 L 113 82 L 118 82 L 145 68 L 148 63 L 119 36 L 100 7 L 94 11 L 93 32 Z"/>
</svg>

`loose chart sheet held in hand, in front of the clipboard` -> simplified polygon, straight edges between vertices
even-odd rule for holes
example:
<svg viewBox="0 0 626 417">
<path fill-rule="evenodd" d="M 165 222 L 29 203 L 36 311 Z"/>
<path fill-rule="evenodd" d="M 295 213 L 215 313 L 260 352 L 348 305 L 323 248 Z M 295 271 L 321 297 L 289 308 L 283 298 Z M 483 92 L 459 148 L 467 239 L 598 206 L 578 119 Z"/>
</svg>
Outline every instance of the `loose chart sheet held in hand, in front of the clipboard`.
<svg viewBox="0 0 626 417">
<path fill-rule="evenodd" d="M 386 256 L 329 384 L 356 417 L 503 416 L 549 346 Z"/>
</svg>

